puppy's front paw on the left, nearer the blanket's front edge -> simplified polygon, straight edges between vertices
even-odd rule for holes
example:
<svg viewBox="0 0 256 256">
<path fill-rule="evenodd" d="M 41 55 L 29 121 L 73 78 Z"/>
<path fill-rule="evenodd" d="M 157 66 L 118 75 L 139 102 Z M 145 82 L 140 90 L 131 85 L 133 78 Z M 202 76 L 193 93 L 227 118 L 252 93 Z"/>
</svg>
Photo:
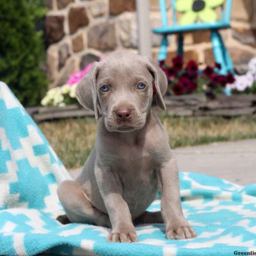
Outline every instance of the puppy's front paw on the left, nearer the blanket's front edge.
<svg viewBox="0 0 256 256">
<path fill-rule="evenodd" d="M 127 227 L 126 225 L 122 225 L 122 227 L 114 228 L 112 230 L 108 235 L 107 241 L 117 243 L 135 243 L 138 241 L 138 238 L 133 226 Z"/>
</svg>

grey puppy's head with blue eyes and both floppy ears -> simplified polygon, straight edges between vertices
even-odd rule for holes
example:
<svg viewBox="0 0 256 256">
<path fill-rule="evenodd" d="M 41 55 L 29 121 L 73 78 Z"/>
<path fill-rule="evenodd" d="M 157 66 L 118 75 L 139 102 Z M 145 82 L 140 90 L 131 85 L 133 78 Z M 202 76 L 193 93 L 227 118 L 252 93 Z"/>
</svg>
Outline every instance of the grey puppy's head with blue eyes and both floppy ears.
<svg viewBox="0 0 256 256">
<path fill-rule="evenodd" d="M 144 127 L 153 84 L 157 105 L 165 110 L 167 79 L 160 67 L 151 58 L 117 52 L 93 64 L 76 95 L 81 105 L 95 112 L 96 119 L 102 111 L 108 131 L 127 132 Z"/>
</svg>

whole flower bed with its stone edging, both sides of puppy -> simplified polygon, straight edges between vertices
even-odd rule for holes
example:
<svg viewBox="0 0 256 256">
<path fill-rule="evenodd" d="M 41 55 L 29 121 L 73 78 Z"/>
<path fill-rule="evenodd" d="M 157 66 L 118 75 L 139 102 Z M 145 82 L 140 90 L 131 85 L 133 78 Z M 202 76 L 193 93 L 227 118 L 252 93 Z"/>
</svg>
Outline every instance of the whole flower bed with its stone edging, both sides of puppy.
<svg viewBox="0 0 256 256">
<path fill-rule="evenodd" d="M 92 111 L 85 110 L 76 101 L 76 85 L 91 67 L 92 64 L 89 64 L 84 70 L 73 73 L 62 87 L 50 89 L 41 101 L 44 108 L 28 109 L 35 121 L 94 116 Z M 163 61 L 160 67 L 169 82 L 164 100 L 167 114 L 171 116 L 239 116 L 256 113 L 256 58 L 249 62 L 248 72 L 244 75 L 220 75 L 218 71 L 221 66 L 217 63 L 214 67 L 207 66 L 200 70 L 198 63 L 184 63 L 181 56 L 172 59 L 171 67 L 167 67 Z M 158 108 L 153 108 L 160 112 Z"/>
</svg>

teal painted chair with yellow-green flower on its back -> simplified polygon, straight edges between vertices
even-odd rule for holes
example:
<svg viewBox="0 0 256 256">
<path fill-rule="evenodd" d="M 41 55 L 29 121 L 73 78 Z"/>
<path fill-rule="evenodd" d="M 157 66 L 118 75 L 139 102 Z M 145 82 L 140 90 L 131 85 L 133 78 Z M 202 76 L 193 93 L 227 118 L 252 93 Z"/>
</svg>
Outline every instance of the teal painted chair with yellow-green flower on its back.
<svg viewBox="0 0 256 256">
<path fill-rule="evenodd" d="M 158 61 L 165 60 L 169 34 L 178 34 L 177 55 L 183 55 L 183 33 L 198 30 L 210 30 L 212 50 L 215 61 L 221 64 L 220 74 L 234 73 L 233 62 L 224 45 L 218 30 L 230 28 L 230 13 L 232 0 L 171 0 L 172 1 L 172 25 L 168 24 L 166 2 L 159 0 L 162 27 L 154 28 L 153 32 L 162 34 Z M 225 3 L 226 2 L 226 3 Z M 221 18 L 215 8 L 221 7 Z M 225 6 L 225 7 L 224 7 Z M 177 13 L 179 19 L 177 20 Z"/>
</svg>

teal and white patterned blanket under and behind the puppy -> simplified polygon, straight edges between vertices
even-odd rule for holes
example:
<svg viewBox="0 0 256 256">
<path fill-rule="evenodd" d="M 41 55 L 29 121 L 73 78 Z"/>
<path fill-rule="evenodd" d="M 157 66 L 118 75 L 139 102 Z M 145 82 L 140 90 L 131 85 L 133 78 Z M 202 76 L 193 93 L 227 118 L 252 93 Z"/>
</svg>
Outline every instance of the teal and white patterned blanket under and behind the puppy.
<svg viewBox="0 0 256 256">
<path fill-rule="evenodd" d="M 63 213 L 56 188 L 65 179 L 70 176 L 44 135 L 0 82 L 0 255 L 256 253 L 255 185 L 242 187 L 215 177 L 180 173 L 184 214 L 198 238 L 167 240 L 163 224 L 140 225 L 138 243 L 120 244 L 106 242 L 107 228 L 62 225 L 55 220 Z M 149 207 L 159 209 L 159 200 Z"/>
</svg>

